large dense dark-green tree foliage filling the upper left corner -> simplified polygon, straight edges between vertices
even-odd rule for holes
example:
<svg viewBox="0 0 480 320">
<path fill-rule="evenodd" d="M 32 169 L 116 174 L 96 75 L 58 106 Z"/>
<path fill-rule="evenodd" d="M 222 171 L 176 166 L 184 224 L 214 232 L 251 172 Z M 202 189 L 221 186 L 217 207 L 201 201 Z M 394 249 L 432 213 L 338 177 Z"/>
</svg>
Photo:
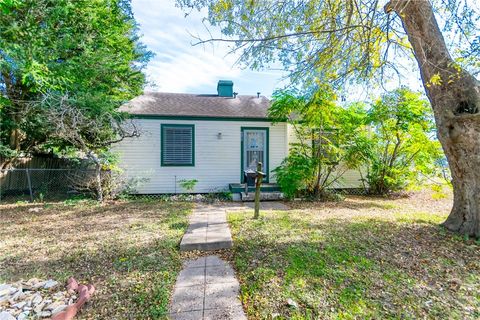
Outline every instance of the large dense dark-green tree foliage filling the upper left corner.
<svg viewBox="0 0 480 320">
<path fill-rule="evenodd" d="M 130 2 L 9 0 L 0 11 L 2 155 L 105 148 L 99 141 L 116 138 L 117 109 L 141 93 L 151 57 Z M 66 107 L 75 113 L 62 118 Z M 85 146 L 64 136 L 72 128 Z"/>
</svg>

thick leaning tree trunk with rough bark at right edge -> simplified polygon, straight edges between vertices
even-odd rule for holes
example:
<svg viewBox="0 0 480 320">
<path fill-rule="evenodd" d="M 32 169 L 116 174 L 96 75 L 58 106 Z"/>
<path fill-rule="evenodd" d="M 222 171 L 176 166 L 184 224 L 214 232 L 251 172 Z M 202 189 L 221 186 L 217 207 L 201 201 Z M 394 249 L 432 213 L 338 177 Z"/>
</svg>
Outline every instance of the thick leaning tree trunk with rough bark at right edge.
<svg viewBox="0 0 480 320">
<path fill-rule="evenodd" d="M 443 225 L 480 238 L 480 84 L 455 65 L 428 0 L 392 0 L 385 10 L 408 34 L 450 165 L 453 208 Z"/>
</svg>

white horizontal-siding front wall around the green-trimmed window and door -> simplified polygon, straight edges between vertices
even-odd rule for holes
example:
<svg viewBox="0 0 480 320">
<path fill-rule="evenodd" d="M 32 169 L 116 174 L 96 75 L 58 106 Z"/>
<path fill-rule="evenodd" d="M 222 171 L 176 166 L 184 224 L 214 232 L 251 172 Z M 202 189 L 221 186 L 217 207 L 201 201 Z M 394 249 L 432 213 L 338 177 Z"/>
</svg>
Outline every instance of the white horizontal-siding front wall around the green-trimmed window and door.
<svg viewBox="0 0 480 320">
<path fill-rule="evenodd" d="M 128 179 L 144 179 L 136 190 L 142 194 L 184 192 L 178 181 L 196 179 L 193 192 L 224 191 L 229 183 L 241 178 L 241 127 L 269 128 L 270 182 L 275 169 L 288 152 L 285 123 L 272 125 L 259 121 L 210 121 L 136 119 L 141 131 L 138 138 L 125 139 L 113 147 L 120 156 L 120 166 Z M 160 164 L 160 125 L 193 124 L 195 126 L 195 166 L 162 167 Z M 218 133 L 222 133 L 218 139 Z"/>
</svg>

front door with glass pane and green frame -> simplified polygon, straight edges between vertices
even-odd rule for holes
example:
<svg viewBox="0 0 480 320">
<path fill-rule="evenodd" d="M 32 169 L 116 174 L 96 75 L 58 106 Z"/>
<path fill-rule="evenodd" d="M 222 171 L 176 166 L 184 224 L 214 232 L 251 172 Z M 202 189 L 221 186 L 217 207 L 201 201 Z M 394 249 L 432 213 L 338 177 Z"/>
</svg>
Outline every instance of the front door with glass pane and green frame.
<svg viewBox="0 0 480 320">
<path fill-rule="evenodd" d="M 243 171 L 257 170 L 258 162 L 268 181 L 268 128 L 242 128 L 242 182 Z"/>
</svg>

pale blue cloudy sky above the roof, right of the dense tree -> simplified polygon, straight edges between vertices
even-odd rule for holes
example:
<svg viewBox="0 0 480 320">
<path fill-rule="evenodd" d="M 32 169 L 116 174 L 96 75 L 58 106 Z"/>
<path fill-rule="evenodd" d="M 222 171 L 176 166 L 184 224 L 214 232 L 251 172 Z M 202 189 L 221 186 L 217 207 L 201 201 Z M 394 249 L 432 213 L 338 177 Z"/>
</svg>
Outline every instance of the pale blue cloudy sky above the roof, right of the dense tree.
<svg viewBox="0 0 480 320">
<path fill-rule="evenodd" d="M 238 56 L 228 55 L 224 43 L 192 46 L 193 35 L 208 38 L 201 13 L 185 18 L 173 0 L 133 0 L 132 7 L 142 42 L 155 53 L 146 69 L 150 82 L 146 90 L 216 93 L 218 80 L 232 80 L 241 95 L 260 92 L 270 97 L 275 88 L 284 86 L 280 71 L 256 72 L 236 65 Z"/>
</svg>

